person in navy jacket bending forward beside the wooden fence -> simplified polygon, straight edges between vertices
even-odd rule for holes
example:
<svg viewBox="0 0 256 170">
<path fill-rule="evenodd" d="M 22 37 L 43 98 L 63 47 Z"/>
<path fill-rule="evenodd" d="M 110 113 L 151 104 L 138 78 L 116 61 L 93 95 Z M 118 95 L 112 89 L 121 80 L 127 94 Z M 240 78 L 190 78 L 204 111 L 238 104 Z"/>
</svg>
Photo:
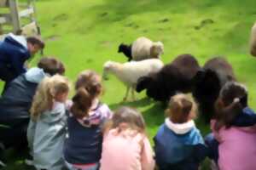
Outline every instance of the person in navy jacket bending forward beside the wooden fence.
<svg viewBox="0 0 256 170">
<path fill-rule="evenodd" d="M 6 84 L 26 72 L 24 63 L 44 48 L 39 37 L 23 37 L 10 33 L 0 42 L 0 79 Z"/>
</svg>

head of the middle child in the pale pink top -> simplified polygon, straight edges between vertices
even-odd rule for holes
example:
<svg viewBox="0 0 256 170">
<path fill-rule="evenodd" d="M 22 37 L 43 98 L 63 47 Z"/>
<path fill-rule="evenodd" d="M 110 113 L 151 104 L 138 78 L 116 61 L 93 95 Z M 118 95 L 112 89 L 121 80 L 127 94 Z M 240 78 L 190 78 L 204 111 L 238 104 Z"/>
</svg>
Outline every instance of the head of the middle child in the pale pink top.
<svg viewBox="0 0 256 170">
<path fill-rule="evenodd" d="M 108 129 L 119 128 L 119 131 L 130 128 L 138 133 L 145 132 L 145 122 L 142 114 L 131 107 L 120 107 L 114 112 L 111 122 L 107 125 Z"/>
</svg>

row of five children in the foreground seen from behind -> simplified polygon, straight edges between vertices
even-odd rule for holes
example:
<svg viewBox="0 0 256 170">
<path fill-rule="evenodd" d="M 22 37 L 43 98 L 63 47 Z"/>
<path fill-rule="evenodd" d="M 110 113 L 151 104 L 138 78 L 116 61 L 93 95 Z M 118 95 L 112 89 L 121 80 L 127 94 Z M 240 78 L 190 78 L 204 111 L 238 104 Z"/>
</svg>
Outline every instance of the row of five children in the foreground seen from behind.
<svg viewBox="0 0 256 170">
<path fill-rule="evenodd" d="M 194 170 L 206 156 L 217 169 L 256 169 L 255 114 L 247 107 L 247 89 L 238 82 L 227 82 L 221 90 L 206 144 L 195 126 L 193 99 L 172 96 L 154 151 L 139 111 L 123 106 L 112 112 L 99 100 L 102 82 L 95 71 L 79 74 L 72 101 L 69 89 L 60 75 L 45 77 L 38 86 L 27 129 L 37 169 Z"/>
</svg>

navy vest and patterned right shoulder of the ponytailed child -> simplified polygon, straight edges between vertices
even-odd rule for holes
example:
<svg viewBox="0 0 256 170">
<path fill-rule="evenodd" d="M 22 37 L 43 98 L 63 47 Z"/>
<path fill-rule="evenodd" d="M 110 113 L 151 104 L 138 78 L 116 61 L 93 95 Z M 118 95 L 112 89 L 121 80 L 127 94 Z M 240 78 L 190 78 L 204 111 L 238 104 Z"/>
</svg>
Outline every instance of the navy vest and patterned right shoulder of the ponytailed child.
<svg viewBox="0 0 256 170">
<path fill-rule="evenodd" d="M 112 116 L 108 105 L 98 103 L 90 116 L 79 122 L 74 116 L 67 119 L 68 137 L 64 156 L 68 163 L 89 164 L 100 160 L 102 153 L 102 122 Z"/>
</svg>

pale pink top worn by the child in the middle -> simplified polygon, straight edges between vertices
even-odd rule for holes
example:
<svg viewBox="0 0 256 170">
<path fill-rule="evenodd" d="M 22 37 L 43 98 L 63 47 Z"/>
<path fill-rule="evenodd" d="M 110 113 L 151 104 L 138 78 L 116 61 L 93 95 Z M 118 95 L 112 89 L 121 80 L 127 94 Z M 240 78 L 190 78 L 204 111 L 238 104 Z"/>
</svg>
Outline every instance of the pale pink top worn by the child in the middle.
<svg viewBox="0 0 256 170">
<path fill-rule="evenodd" d="M 112 129 L 104 135 L 101 170 L 153 170 L 148 138 L 132 130 Z"/>
</svg>

